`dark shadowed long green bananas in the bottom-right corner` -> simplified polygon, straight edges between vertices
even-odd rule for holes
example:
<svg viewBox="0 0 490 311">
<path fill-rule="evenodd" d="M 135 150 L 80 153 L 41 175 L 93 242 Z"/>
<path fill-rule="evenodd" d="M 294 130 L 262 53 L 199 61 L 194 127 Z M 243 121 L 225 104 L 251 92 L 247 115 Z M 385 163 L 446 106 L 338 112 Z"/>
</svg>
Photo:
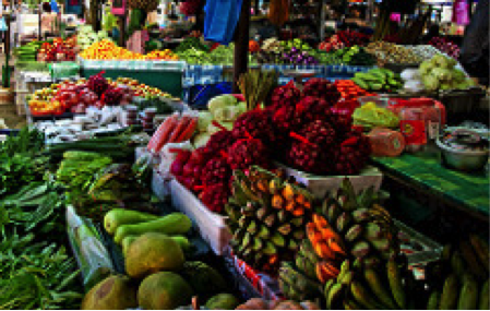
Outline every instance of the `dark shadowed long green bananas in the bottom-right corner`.
<svg viewBox="0 0 490 311">
<path fill-rule="evenodd" d="M 490 310 L 490 246 L 479 236 L 446 246 L 426 268 L 427 310 Z"/>
</svg>

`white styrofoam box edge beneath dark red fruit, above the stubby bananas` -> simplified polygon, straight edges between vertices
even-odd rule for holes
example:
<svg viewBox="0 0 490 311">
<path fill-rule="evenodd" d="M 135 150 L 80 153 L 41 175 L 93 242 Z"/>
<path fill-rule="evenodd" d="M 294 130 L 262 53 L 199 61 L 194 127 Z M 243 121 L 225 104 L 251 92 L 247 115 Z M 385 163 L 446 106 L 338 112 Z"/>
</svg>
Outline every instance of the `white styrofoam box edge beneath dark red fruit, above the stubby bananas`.
<svg viewBox="0 0 490 311">
<path fill-rule="evenodd" d="M 366 167 L 360 175 L 356 176 L 316 176 L 278 165 L 286 170 L 288 176 L 295 177 L 298 182 L 307 186 L 308 190 L 319 199 L 324 198 L 331 191 L 337 190 L 345 178 L 350 180 L 356 192 L 368 189 L 371 186 L 378 191 L 383 181 L 383 174 L 373 166 Z"/>
</svg>

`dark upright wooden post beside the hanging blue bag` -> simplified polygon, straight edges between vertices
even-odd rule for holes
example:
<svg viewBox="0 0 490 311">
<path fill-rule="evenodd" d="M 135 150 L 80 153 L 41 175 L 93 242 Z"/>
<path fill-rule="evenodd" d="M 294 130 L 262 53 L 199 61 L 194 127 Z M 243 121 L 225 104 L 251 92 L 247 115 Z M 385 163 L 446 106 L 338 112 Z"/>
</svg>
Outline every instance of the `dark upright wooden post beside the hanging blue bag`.
<svg viewBox="0 0 490 311">
<path fill-rule="evenodd" d="M 249 64 L 249 25 L 251 0 L 243 0 L 240 20 L 237 25 L 235 58 L 234 58 L 234 93 L 240 93 L 238 80 L 246 73 Z"/>
</svg>

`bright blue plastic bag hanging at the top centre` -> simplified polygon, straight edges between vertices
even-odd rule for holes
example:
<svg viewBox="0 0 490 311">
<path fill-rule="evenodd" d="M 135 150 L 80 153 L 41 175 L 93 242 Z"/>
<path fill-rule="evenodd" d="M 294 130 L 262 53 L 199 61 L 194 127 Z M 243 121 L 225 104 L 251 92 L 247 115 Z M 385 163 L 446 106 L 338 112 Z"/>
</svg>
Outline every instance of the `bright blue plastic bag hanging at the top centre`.
<svg viewBox="0 0 490 311">
<path fill-rule="evenodd" d="M 228 45 L 240 19 L 242 0 L 207 0 L 204 38 Z"/>
</svg>

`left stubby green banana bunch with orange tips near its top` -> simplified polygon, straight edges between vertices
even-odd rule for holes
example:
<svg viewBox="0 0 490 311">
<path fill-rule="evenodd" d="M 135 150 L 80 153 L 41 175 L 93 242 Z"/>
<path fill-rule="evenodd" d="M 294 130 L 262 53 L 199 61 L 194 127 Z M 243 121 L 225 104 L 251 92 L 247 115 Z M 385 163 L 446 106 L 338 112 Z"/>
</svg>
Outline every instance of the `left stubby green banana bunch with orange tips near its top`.
<svg viewBox="0 0 490 311">
<path fill-rule="evenodd" d="M 246 176 L 234 172 L 232 196 L 225 211 L 236 255 L 253 268 L 277 274 L 282 261 L 291 260 L 311 219 L 312 195 L 299 186 L 252 167 Z"/>
</svg>

